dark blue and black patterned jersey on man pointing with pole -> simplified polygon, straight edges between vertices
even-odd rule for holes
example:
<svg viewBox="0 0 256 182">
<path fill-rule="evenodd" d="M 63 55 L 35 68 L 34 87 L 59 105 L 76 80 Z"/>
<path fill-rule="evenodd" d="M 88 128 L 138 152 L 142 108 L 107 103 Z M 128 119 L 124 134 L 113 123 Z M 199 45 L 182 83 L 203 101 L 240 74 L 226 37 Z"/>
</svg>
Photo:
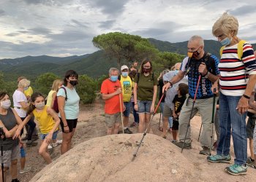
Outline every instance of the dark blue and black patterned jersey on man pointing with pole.
<svg viewBox="0 0 256 182">
<path fill-rule="evenodd" d="M 206 58 L 207 57 L 207 58 Z M 188 63 L 190 62 L 190 63 Z M 219 74 L 219 59 L 214 55 L 205 55 L 200 60 L 195 60 L 195 58 L 191 58 L 188 61 L 188 58 L 184 58 L 181 63 L 181 71 L 186 71 L 189 77 L 189 97 L 194 98 L 195 91 L 197 88 L 197 82 L 199 79 L 198 68 L 201 63 L 206 63 L 207 70 L 214 75 Z M 214 96 L 213 92 L 211 92 L 211 81 L 206 79 L 204 76 L 201 76 L 201 80 L 199 83 L 199 87 L 197 90 L 197 98 L 211 98 Z"/>
</svg>

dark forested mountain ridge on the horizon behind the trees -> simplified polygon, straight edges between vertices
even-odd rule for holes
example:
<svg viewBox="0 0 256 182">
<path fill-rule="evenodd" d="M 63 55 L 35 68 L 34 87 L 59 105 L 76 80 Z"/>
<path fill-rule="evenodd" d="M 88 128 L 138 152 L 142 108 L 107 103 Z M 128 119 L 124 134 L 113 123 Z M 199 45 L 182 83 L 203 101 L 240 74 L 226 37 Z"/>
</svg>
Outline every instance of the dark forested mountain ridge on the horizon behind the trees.
<svg viewBox="0 0 256 182">
<path fill-rule="evenodd" d="M 187 55 L 187 41 L 178 43 L 157 39 L 148 39 L 148 41 L 161 52 L 176 52 Z M 256 44 L 252 44 L 252 46 L 256 48 Z M 206 52 L 211 52 L 211 54 L 219 57 L 220 47 L 218 41 L 205 40 Z M 5 78 L 10 80 L 18 76 L 27 76 L 29 79 L 34 79 L 46 72 L 63 76 L 69 69 L 78 71 L 78 74 L 87 74 L 96 78 L 102 76 L 102 74 L 108 74 L 108 69 L 116 66 L 116 60 L 107 58 L 102 50 L 87 55 L 74 55 L 64 58 L 41 55 L 0 60 L 0 71 L 4 73 Z"/>
</svg>

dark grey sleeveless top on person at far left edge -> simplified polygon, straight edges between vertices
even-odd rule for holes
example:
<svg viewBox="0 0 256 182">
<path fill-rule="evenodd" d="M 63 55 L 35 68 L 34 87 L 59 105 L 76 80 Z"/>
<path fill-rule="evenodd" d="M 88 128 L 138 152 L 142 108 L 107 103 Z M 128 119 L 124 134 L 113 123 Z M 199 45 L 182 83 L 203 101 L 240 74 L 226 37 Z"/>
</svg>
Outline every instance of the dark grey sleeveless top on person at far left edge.
<svg viewBox="0 0 256 182">
<path fill-rule="evenodd" d="M 7 130 L 12 130 L 13 127 L 15 127 L 17 121 L 15 118 L 15 115 L 12 112 L 12 108 L 8 108 L 7 115 L 1 115 L 0 114 L 0 120 L 3 122 L 4 127 L 7 128 Z M 12 140 L 12 137 L 6 138 L 5 140 L 0 139 L 0 142 L 3 146 L 3 151 L 10 151 L 13 147 L 18 146 L 19 140 L 16 138 L 15 140 Z"/>
</svg>

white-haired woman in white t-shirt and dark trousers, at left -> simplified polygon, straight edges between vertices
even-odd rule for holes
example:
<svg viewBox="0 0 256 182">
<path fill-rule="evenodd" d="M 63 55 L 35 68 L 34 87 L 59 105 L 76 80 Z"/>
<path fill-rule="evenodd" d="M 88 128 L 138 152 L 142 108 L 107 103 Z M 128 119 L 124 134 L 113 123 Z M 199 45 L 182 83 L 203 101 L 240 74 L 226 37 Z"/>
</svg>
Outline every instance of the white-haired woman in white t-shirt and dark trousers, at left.
<svg viewBox="0 0 256 182">
<path fill-rule="evenodd" d="M 29 88 L 30 81 L 27 79 L 21 79 L 20 82 L 18 82 L 18 89 L 15 90 L 15 92 L 12 95 L 13 98 L 13 106 L 15 111 L 18 113 L 18 116 L 20 116 L 20 119 L 23 121 L 26 118 L 26 109 L 29 108 L 30 103 L 28 102 L 26 95 L 24 94 L 24 91 Z M 28 141 L 26 142 L 27 146 L 36 146 L 37 143 L 34 143 L 31 141 L 32 134 L 34 131 L 34 128 L 36 127 L 36 124 L 31 119 L 29 122 L 29 130 L 28 130 Z M 20 135 L 23 134 L 23 130 L 20 132 Z"/>
</svg>

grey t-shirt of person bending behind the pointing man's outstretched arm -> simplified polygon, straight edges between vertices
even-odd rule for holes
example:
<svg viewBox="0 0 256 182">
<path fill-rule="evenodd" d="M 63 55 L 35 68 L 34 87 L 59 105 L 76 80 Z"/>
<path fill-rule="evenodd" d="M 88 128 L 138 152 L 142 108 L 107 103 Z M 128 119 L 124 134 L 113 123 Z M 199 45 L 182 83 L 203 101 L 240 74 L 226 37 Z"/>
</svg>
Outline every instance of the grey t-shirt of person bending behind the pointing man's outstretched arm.
<svg viewBox="0 0 256 182">
<path fill-rule="evenodd" d="M 164 82 L 168 82 L 171 79 L 173 79 L 173 76 L 176 76 L 176 71 L 169 71 L 167 74 L 164 74 L 162 79 Z M 180 82 L 177 82 L 176 84 L 173 84 L 173 87 L 167 90 L 166 96 L 165 96 L 165 104 L 173 110 L 173 98 L 175 97 L 176 94 L 178 94 L 176 88 L 178 87 L 178 84 L 184 83 L 188 84 L 188 79 L 187 76 L 185 76 L 183 79 L 181 79 Z"/>
</svg>

